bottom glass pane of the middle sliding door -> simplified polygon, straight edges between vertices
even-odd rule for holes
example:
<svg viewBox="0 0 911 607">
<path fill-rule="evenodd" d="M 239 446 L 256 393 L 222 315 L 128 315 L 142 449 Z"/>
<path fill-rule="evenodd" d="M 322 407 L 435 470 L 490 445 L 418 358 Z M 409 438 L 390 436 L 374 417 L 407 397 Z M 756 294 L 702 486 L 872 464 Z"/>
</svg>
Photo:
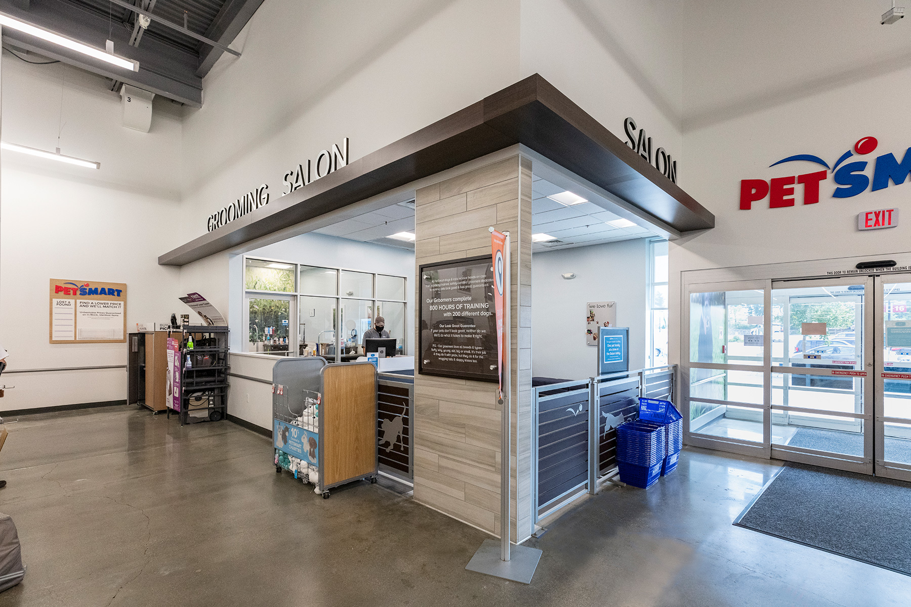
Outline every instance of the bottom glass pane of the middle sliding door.
<svg viewBox="0 0 911 607">
<path fill-rule="evenodd" d="M 773 445 L 864 456 L 864 420 L 772 410 Z"/>
</svg>

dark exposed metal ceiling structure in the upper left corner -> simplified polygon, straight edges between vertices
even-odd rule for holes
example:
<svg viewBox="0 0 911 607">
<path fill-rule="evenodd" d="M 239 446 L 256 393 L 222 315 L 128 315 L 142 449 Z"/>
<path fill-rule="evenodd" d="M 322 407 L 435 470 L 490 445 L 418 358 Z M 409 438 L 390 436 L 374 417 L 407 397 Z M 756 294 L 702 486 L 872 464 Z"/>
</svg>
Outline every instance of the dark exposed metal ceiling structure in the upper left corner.
<svg viewBox="0 0 911 607">
<path fill-rule="evenodd" d="M 262 0 L 0 0 L 0 12 L 90 46 L 114 42 L 138 72 L 3 29 L 5 46 L 59 59 L 189 106 L 202 106 L 202 78 L 250 21 Z M 149 19 L 148 25 L 146 19 Z"/>
</svg>

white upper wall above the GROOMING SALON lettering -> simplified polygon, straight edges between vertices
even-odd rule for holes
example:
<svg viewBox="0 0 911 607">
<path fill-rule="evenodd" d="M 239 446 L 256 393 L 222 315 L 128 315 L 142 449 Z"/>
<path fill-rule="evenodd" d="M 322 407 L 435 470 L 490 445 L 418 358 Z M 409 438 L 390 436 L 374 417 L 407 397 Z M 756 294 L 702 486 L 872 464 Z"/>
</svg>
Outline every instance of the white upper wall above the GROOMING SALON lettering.
<svg viewBox="0 0 911 607">
<path fill-rule="evenodd" d="M 518 0 L 266 0 L 184 121 L 185 240 L 251 187 L 351 139 L 351 159 L 518 76 Z M 355 202 L 355 201 L 353 201 Z"/>
</svg>

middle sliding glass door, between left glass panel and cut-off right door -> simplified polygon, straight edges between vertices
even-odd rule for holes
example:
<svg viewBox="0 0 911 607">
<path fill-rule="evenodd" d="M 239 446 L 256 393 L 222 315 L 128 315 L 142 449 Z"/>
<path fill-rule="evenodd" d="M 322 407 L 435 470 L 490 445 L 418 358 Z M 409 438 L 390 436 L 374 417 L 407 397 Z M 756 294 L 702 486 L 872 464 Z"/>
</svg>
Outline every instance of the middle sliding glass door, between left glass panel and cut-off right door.
<svg viewBox="0 0 911 607">
<path fill-rule="evenodd" d="M 773 283 L 772 457 L 873 472 L 872 282 Z"/>
</svg>

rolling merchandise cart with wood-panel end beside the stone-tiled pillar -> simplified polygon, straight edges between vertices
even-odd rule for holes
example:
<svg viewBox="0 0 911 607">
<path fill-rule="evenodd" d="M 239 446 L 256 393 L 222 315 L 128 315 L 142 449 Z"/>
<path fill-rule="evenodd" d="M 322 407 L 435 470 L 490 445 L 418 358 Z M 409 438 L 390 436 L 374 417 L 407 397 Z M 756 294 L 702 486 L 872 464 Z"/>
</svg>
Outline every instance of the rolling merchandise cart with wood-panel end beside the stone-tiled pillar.
<svg viewBox="0 0 911 607">
<path fill-rule="evenodd" d="M 376 482 L 376 415 L 371 363 L 279 360 L 272 369 L 275 471 L 293 472 L 323 498 L 346 482 Z"/>
</svg>

